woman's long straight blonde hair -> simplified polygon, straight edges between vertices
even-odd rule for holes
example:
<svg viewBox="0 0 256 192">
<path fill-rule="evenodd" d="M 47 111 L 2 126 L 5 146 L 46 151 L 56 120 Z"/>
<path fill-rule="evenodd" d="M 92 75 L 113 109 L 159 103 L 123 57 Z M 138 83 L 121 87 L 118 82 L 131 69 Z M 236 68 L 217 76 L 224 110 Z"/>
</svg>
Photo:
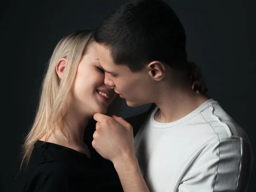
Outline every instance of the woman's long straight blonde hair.
<svg viewBox="0 0 256 192">
<path fill-rule="evenodd" d="M 69 141 L 68 130 L 64 129 L 63 119 L 65 104 L 75 80 L 76 71 L 88 44 L 94 41 L 94 31 L 84 29 L 73 32 L 56 45 L 48 63 L 47 73 L 41 87 L 41 96 L 34 123 L 22 145 L 21 166 L 28 166 L 34 144 L 44 135 L 49 135 L 57 127 L 62 137 Z M 64 77 L 60 81 L 56 65 L 61 58 L 66 58 Z M 120 112 L 122 101 L 116 97 L 108 108 L 108 115 Z M 20 166 L 20 168 L 21 168 Z"/>
</svg>

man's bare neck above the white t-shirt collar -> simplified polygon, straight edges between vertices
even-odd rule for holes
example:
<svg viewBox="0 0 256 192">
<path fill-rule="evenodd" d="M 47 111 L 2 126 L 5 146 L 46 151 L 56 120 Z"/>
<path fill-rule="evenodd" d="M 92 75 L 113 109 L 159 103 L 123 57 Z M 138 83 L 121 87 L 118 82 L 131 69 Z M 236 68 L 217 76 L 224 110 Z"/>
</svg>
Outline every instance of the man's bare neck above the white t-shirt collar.
<svg viewBox="0 0 256 192">
<path fill-rule="evenodd" d="M 158 122 L 175 122 L 209 99 L 192 90 L 190 83 L 180 87 L 165 88 L 159 95 L 156 105 L 160 110 L 154 117 Z"/>
</svg>

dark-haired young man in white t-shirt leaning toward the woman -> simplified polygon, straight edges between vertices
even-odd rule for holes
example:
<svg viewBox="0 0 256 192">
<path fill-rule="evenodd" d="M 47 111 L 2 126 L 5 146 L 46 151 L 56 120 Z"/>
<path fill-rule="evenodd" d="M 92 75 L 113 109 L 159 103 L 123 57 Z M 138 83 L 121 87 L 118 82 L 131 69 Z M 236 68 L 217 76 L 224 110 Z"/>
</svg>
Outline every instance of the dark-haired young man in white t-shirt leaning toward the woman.
<svg viewBox="0 0 256 192">
<path fill-rule="evenodd" d="M 135 139 L 124 119 L 94 115 L 92 145 L 112 161 L 124 191 L 245 192 L 250 141 L 218 102 L 191 89 L 173 10 L 161 0 L 129 2 L 101 23 L 96 41 L 105 84 L 131 107 L 157 105 Z"/>
</svg>

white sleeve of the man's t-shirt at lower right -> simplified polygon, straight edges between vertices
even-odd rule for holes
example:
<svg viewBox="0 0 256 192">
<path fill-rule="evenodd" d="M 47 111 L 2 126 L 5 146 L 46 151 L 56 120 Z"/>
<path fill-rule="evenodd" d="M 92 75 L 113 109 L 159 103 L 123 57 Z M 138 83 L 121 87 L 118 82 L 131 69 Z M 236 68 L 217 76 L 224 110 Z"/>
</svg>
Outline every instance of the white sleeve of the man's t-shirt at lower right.
<svg viewBox="0 0 256 192">
<path fill-rule="evenodd" d="M 222 138 L 209 143 L 193 161 L 179 185 L 179 192 L 246 192 L 253 166 L 249 143 Z"/>
</svg>

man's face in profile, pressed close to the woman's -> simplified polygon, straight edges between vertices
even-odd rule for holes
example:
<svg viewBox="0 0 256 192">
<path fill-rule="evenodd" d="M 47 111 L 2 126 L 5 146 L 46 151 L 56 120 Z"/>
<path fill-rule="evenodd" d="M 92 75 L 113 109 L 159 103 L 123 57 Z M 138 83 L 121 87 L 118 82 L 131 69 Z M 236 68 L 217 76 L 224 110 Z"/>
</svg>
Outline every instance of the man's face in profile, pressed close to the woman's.
<svg viewBox="0 0 256 192">
<path fill-rule="evenodd" d="M 108 48 L 97 44 L 100 64 L 105 71 L 105 84 L 114 87 L 121 98 L 126 99 L 130 107 L 136 107 L 151 102 L 152 80 L 147 70 L 133 73 L 125 65 L 116 65 Z"/>
</svg>

